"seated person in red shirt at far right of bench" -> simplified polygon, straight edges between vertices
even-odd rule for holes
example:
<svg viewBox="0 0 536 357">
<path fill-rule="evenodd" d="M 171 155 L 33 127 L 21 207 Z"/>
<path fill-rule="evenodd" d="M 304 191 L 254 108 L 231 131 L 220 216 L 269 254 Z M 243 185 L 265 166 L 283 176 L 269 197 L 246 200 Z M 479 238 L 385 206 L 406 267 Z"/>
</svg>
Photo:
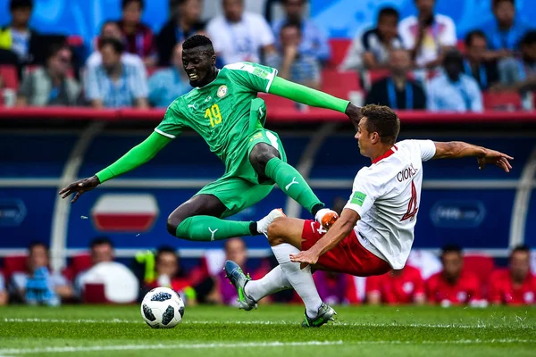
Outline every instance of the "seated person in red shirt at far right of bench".
<svg viewBox="0 0 536 357">
<path fill-rule="evenodd" d="M 490 303 L 531 305 L 536 303 L 536 277 L 531 273 L 530 251 L 525 245 L 510 253 L 508 270 L 497 270 L 490 277 Z"/>
</svg>

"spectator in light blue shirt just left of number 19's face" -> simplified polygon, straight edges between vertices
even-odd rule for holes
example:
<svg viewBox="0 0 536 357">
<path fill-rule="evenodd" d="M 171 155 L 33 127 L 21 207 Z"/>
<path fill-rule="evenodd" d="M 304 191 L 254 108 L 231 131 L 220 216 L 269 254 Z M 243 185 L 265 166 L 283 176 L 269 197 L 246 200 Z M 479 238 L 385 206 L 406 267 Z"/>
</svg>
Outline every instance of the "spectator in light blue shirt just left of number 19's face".
<svg viewBox="0 0 536 357">
<path fill-rule="evenodd" d="M 155 71 L 149 79 L 148 87 L 149 102 L 163 108 L 192 89 L 182 66 L 182 43 L 173 48 L 172 67 Z"/>
</svg>

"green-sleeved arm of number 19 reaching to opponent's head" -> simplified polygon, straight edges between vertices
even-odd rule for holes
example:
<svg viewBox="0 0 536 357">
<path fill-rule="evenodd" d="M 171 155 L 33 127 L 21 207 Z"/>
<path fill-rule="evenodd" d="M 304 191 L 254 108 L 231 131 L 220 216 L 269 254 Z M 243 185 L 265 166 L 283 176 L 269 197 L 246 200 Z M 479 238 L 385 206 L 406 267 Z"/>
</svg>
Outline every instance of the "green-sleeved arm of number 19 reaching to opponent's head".
<svg viewBox="0 0 536 357">
<path fill-rule="evenodd" d="M 275 77 L 268 91 L 272 95 L 279 95 L 295 102 L 344 112 L 350 120 L 359 122 L 361 111 L 359 107 L 348 100 L 340 99 L 310 87 L 302 86 L 281 77 Z"/>
</svg>

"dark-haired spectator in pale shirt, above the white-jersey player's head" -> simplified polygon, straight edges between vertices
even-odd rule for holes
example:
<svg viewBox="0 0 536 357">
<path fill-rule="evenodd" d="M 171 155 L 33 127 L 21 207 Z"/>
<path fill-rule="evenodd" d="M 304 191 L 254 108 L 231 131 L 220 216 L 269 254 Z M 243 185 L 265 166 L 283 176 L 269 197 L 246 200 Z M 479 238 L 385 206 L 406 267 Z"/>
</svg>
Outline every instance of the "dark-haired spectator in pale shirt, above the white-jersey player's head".
<svg viewBox="0 0 536 357">
<path fill-rule="evenodd" d="M 387 68 L 389 52 L 404 48 L 402 38 L 398 36 L 398 11 L 385 7 L 378 13 L 375 29 L 357 35 L 352 41 L 341 70 L 362 71 Z"/>
</svg>

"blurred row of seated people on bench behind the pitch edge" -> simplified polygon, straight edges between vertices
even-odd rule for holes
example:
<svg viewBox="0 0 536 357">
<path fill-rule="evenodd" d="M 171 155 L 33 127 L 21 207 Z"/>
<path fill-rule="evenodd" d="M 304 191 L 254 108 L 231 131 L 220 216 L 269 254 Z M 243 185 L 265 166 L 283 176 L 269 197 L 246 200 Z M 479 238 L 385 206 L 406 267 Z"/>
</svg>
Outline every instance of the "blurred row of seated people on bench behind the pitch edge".
<svg viewBox="0 0 536 357">
<path fill-rule="evenodd" d="M 225 260 L 237 262 L 253 279 L 262 278 L 277 264 L 273 258 L 248 258 L 246 244 L 238 237 L 227 240 L 222 252 L 211 251 L 188 268 L 168 246 L 117 262 L 113 243 L 106 237 L 93 240 L 89 253 L 72 257 L 61 273 L 50 270 L 46 245 L 34 243 L 28 251 L 27 256 L 4 259 L 0 304 L 135 303 L 150 289 L 169 286 L 189 305 L 235 305 L 237 292 L 222 271 Z M 314 282 L 326 303 L 534 305 L 536 276 L 530 260 L 529 248 L 517 246 L 510 253 L 507 268 L 498 268 L 488 256 L 464 254 L 457 245 L 445 245 L 439 258 L 415 251 L 404 269 L 381 276 L 357 278 L 316 271 Z M 284 290 L 260 303 L 301 300 L 293 290 Z"/>
</svg>

